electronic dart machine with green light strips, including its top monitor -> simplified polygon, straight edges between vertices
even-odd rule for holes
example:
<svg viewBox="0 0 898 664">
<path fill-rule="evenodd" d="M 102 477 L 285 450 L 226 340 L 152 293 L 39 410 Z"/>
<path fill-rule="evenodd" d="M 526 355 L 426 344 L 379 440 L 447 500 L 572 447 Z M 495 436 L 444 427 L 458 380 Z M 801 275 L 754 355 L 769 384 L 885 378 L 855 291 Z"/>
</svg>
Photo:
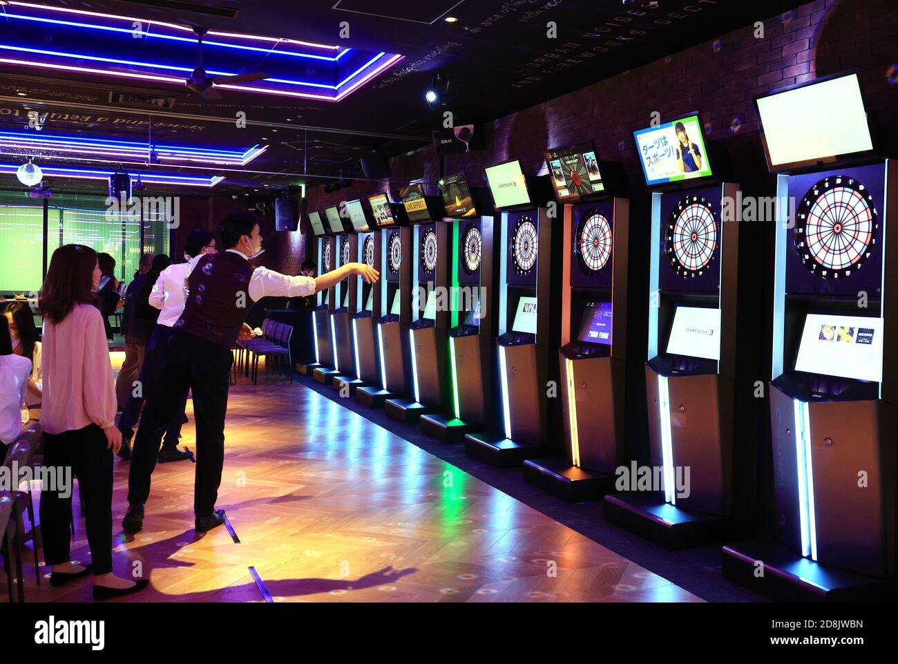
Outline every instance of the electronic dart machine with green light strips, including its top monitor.
<svg viewBox="0 0 898 664">
<path fill-rule="evenodd" d="M 444 442 L 459 442 L 471 431 L 489 428 L 498 411 L 493 390 L 496 336 L 496 218 L 486 190 L 471 188 L 464 173 L 437 182 L 445 216 L 453 219 L 449 330 L 451 394 L 444 412 L 422 415 L 421 431 Z"/>
</svg>

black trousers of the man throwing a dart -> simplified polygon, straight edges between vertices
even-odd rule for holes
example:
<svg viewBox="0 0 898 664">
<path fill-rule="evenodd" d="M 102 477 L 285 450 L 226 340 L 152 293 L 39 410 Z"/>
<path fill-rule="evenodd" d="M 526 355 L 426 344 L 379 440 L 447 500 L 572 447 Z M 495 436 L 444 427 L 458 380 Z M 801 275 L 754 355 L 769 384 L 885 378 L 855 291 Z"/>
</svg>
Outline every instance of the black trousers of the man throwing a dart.
<svg viewBox="0 0 898 664">
<path fill-rule="evenodd" d="M 231 378 L 231 349 L 173 331 L 159 383 L 146 400 L 134 439 L 128 474 L 128 502 L 142 505 L 150 495 L 150 475 L 156 465 L 163 433 L 180 414 L 181 398 L 193 392 L 193 416 L 197 426 L 197 468 L 193 509 L 206 517 L 215 509 L 225 463 L 225 413 Z"/>
</svg>

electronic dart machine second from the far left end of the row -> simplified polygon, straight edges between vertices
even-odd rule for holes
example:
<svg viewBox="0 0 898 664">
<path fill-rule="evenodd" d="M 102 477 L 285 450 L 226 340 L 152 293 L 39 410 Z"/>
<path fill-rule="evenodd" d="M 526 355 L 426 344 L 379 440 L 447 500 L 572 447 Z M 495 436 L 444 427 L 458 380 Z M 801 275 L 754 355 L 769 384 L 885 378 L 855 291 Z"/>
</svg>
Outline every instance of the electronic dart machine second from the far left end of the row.
<svg viewBox="0 0 898 664">
<path fill-rule="evenodd" d="M 330 227 L 330 249 L 325 252 L 321 272 L 327 272 L 339 268 L 349 258 L 348 222 L 344 223 L 340 216 L 339 208 L 332 206 L 324 210 Z M 330 266 L 333 265 L 331 268 Z M 322 366 L 312 372 L 312 376 L 319 383 L 330 384 L 336 376 L 348 373 L 352 365 L 352 340 L 349 336 L 348 315 L 348 282 L 343 279 L 328 294 L 328 314 L 326 327 L 316 325 L 316 335 L 324 334 L 330 338 L 330 364 L 323 362 Z M 322 321 L 323 322 L 323 321 Z M 343 367 L 343 368 L 341 368 Z"/>
</svg>

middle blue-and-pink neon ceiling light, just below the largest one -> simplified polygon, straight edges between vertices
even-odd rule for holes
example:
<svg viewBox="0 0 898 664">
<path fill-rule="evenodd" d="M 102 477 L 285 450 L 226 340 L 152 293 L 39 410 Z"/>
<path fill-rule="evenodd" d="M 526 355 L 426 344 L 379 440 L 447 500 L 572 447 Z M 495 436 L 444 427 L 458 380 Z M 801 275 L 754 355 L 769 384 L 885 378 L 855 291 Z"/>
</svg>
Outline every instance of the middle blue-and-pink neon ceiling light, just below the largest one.
<svg viewBox="0 0 898 664">
<path fill-rule="evenodd" d="M 172 162 L 202 162 L 245 166 L 261 155 L 268 146 L 251 146 L 246 149 L 220 149 L 202 146 L 174 146 L 153 144 L 154 155 Z M 9 150 L 66 152 L 77 155 L 101 155 L 111 157 L 145 158 L 149 146 L 136 141 L 114 138 L 40 134 L 33 131 L 0 131 L 0 152 Z"/>
</svg>

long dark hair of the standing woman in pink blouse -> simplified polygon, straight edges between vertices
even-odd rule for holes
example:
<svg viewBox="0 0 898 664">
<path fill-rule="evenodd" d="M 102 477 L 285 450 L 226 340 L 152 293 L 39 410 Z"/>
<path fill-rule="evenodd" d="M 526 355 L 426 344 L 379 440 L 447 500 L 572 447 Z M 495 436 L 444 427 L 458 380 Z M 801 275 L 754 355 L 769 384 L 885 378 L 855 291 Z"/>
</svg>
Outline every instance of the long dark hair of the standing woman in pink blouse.
<svg viewBox="0 0 898 664">
<path fill-rule="evenodd" d="M 47 279 L 40 289 L 40 313 L 62 323 L 75 305 L 95 305 L 93 270 L 97 252 L 84 244 L 63 244 L 50 258 Z"/>
</svg>

